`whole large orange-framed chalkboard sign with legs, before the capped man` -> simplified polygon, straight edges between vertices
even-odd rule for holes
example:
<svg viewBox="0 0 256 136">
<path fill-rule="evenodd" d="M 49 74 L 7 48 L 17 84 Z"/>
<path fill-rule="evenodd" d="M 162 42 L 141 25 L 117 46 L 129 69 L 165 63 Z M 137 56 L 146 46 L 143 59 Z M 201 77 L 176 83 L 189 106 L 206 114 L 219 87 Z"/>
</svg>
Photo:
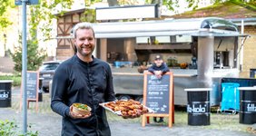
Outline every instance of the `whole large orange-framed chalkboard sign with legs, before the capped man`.
<svg viewBox="0 0 256 136">
<path fill-rule="evenodd" d="M 168 126 L 172 127 L 173 107 L 173 74 L 171 72 L 162 75 L 158 79 L 150 72 L 144 71 L 143 104 L 154 113 L 143 114 L 143 127 L 146 117 L 168 117 Z"/>
</svg>

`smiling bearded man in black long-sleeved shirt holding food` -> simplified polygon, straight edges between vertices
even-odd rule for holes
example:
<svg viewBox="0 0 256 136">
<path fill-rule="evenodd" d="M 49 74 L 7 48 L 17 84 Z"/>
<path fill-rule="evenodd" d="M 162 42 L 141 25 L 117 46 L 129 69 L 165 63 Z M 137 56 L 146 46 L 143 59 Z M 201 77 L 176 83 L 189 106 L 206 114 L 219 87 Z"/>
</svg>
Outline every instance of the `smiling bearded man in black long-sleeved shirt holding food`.
<svg viewBox="0 0 256 136">
<path fill-rule="evenodd" d="M 73 33 L 77 52 L 54 73 L 51 108 L 63 116 L 63 136 L 110 136 L 105 110 L 99 105 L 115 101 L 110 65 L 92 54 L 95 47 L 92 24 L 76 24 Z M 74 103 L 78 103 L 77 107 Z"/>
</svg>

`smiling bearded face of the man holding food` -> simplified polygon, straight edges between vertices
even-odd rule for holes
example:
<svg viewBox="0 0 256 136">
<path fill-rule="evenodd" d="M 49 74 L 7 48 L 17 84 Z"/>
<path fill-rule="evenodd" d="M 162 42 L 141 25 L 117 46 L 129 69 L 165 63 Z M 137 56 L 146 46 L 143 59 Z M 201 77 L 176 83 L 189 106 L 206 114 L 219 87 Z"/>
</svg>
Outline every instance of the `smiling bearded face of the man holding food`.
<svg viewBox="0 0 256 136">
<path fill-rule="evenodd" d="M 92 29 L 78 29 L 76 31 L 76 38 L 74 44 L 77 49 L 77 53 L 83 56 L 90 56 L 94 52 L 95 38 Z"/>
</svg>

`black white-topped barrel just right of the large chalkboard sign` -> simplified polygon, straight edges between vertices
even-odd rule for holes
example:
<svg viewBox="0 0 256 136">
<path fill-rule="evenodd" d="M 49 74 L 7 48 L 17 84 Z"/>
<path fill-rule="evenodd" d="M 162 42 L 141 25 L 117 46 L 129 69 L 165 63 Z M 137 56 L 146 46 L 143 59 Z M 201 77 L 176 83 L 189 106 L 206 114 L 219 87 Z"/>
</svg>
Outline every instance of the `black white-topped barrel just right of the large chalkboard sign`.
<svg viewBox="0 0 256 136">
<path fill-rule="evenodd" d="M 212 88 L 185 89 L 188 96 L 188 124 L 210 125 L 210 92 Z"/>
</svg>

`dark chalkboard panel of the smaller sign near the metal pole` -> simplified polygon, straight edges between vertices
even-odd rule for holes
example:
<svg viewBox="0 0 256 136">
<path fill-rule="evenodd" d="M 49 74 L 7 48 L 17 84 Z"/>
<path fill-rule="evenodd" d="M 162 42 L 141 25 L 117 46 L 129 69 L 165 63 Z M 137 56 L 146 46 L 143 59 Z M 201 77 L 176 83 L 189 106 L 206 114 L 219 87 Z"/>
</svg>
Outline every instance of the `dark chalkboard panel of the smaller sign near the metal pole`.
<svg viewBox="0 0 256 136">
<path fill-rule="evenodd" d="M 27 100 L 37 100 L 37 92 L 39 87 L 37 72 L 27 72 L 26 73 L 26 94 Z"/>
</svg>

